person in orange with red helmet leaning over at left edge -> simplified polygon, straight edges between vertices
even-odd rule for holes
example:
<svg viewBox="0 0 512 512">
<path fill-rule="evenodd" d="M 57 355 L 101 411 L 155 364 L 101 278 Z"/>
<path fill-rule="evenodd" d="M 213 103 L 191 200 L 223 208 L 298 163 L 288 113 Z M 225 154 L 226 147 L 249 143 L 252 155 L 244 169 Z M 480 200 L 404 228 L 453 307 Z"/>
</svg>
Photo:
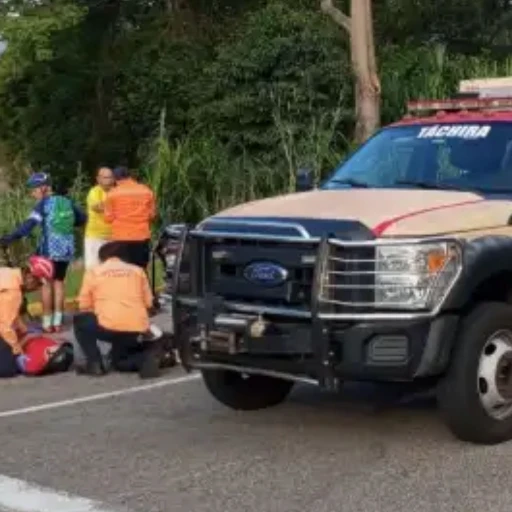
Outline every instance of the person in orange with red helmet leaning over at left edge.
<svg viewBox="0 0 512 512">
<path fill-rule="evenodd" d="M 28 333 L 20 317 L 23 293 L 37 290 L 53 275 L 53 263 L 42 256 L 32 256 L 23 268 L 0 268 L 0 377 L 19 373 L 17 358 Z"/>
</svg>

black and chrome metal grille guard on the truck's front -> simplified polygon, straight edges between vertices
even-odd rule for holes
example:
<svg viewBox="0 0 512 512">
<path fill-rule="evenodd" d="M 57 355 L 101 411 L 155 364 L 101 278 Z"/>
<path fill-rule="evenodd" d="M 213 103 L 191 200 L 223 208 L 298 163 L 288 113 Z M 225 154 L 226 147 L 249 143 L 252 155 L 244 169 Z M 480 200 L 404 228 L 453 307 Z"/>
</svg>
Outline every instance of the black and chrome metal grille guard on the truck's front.
<svg viewBox="0 0 512 512">
<path fill-rule="evenodd" d="M 193 368 L 218 368 L 218 369 L 237 369 L 238 371 L 245 373 L 255 373 L 261 375 L 270 376 L 270 372 L 268 369 L 257 368 L 257 367 L 243 367 L 239 365 L 226 365 L 223 363 L 215 363 L 210 361 L 193 361 L 192 358 L 192 343 L 189 337 L 187 337 L 187 333 L 182 330 L 183 326 L 183 318 L 180 316 L 183 311 L 183 306 L 188 308 L 194 308 L 194 306 L 199 306 L 200 301 L 204 299 L 203 296 L 197 296 L 194 294 L 180 294 L 180 275 L 181 275 L 181 267 L 184 261 L 184 252 L 186 248 L 189 248 L 194 241 L 200 240 L 201 238 L 232 238 L 232 239 L 240 239 L 240 238 L 251 238 L 258 239 L 262 241 L 269 240 L 281 240 L 284 242 L 291 242 L 300 244 L 301 242 L 308 241 L 309 243 L 312 241 L 311 238 L 302 238 L 302 237 L 272 237 L 263 234 L 247 234 L 247 233 L 231 233 L 231 232 L 208 232 L 197 229 L 190 229 L 189 227 L 183 229 L 181 234 L 181 243 L 180 243 L 180 251 L 177 255 L 176 259 L 176 272 L 174 273 L 174 282 L 173 289 L 175 290 L 175 295 L 172 298 L 172 313 L 173 313 L 173 324 L 174 324 L 174 334 L 175 339 L 177 341 L 177 348 L 180 352 L 180 356 L 183 362 L 183 366 L 187 371 L 190 371 Z M 260 306 L 251 303 L 243 303 L 243 302 L 232 302 L 232 301 L 223 301 L 222 298 L 219 297 L 219 300 L 222 303 L 222 307 L 227 309 L 230 312 L 236 313 L 253 313 L 253 314 L 261 314 L 261 315 L 272 315 L 272 316 L 283 316 L 288 318 L 296 318 L 296 319 L 304 319 L 309 320 L 312 324 L 312 336 L 314 340 L 314 356 L 315 356 L 315 366 L 316 371 L 315 375 L 318 376 L 319 383 L 326 385 L 328 387 L 336 385 L 336 377 L 331 372 L 330 365 L 330 345 L 328 336 L 325 334 L 324 326 L 326 321 L 371 321 L 371 320 L 411 320 L 417 318 L 428 318 L 435 316 L 439 309 L 442 307 L 443 302 L 446 300 L 450 291 L 452 290 L 454 284 L 457 282 L 457 279 L 461 273 L 461 266 L 459 265 L 457 275 L 453 279 L 451 285 L 445 291 L 443 297 L 437 304 L 437 306 L 430 311 L 367 311 L 367 312 L 342 312 L 342 313 L 329 313 L 325 312 L 326 304 L 330 304 L 330 300 L 328 294 L 326 294 L 326 290 L 329 289 L 329 264 L 331 259 L 333 258 L 333 249 L 339 248 L 361 248 L 361 247 L 373 247 L 376 248 L 378 246 L 392 246 L 392 245 L 418 245 L 425 243 L 439 243 L 439 242 L 450 242 L 455 243 L 460 249 L 460 245 L 456 243 L 453 239 L 447 239 L 444 237 L 431 237 L 431 238 L 421 238 L 421 239 L 380 239 L 380 240 L 371 240 L 371 241 L 344 241 L 336 238 L 332 238 L 330 236 L 324 237 L 319 241 L 319 248 L 317 252 L 317 258 L 315 262 L 314 269 L 314 281 L 312 287 L 312 297 L 311 297 L 311 308 L 309 311 L 297 310 L 287 307 L 266 307 Z M 193 253 L 193 251 L 192 251 Z M 195 255 L 197 258 L 197 254 Z M 351 260 L 352 263 L 354 260 Z M 375 260 L 374 260 L 375 261 Z M 195 265 L 204 265 L 204 260 L 202 258 L 198 258 L 196 260 L 192 260 L 192 265 L 190 268 L 191 275 L 196 274 L 202 275 L 202 268 L 194 268 Z M 374 271 L 376 272 L 376 270 Z M 441 273 L 440 273 L 441 275 Z M 191 276 L 192 281 L 192 276 Z M 346 306 L 354 306 L 357 304 L 339 304 L 342 307 Z M 377 309 L 375 305 L 373 309 Z M 371 308 L 371 304 L 365 303 L 364 307 L 368 309 Z M 228 368 L 229 366 L 229 368 Z M 275 375 L 279 374 L 282 378 L 288 378 L 290 380 L 301 380 L 304 382 L 311 382 L 311 378 L 308 376 L 299 377 L 297 375 L 286 374 L 282 372 L 273 372 Z"/>
</svg>

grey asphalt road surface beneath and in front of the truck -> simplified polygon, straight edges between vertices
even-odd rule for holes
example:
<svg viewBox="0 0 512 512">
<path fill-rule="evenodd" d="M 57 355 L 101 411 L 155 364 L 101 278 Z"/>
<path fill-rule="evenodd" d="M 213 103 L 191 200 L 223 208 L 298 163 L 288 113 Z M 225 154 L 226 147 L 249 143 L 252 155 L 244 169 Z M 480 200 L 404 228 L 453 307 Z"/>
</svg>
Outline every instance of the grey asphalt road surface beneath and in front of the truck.
<svg viewBox="0 0 512 512">
<path fill-rule="evenodd" d="M 512 443 L 456 441 L 428 398 L 397 404 L 375 388 L 297 386 L 278 407 L 234 412 L 183 375 L 1 382 L 0 510 L 512 509 Z M 45 505 L 30 490 L 9 490 L 12 479 L 101 507 L 59 508 L 54 494 Z"/>
</svg>

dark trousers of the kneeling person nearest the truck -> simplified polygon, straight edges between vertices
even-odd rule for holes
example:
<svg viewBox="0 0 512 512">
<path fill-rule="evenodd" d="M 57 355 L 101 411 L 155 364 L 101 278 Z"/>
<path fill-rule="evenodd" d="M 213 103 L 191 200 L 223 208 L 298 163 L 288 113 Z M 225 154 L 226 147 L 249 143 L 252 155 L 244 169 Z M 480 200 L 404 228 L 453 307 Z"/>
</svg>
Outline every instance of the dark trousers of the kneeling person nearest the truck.
<svg viewBox="0 0 512 512">
<path fill-rule="evenodd" d="M 144 360 L 145 345 L 139 341 L 140 333 L 110 331 L 98 323 L 96 315 L 80 313 L 73 318 L 77 343 L 90 363 L 102 364 L 98 340 L 112 345 L 111 361 L 118 371 L 138 371 Z"/>
</svg>

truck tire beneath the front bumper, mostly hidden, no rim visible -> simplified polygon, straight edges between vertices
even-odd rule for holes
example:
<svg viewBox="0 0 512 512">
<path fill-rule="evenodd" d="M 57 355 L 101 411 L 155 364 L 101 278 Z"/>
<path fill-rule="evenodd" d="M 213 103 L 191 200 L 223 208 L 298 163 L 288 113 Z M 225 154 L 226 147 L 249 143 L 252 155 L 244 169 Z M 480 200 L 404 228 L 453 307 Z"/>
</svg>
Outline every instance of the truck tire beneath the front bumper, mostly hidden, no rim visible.
<svg viewBox="0 0 512 512">
<path fill-rule="evenodd" d="M 222 404 L 243 411 L 278 405 L 290 393 L 293 382 L 263 375 L 243 375 L 229 370 L 202 370 L 208 391 Z"/>
</svg>

